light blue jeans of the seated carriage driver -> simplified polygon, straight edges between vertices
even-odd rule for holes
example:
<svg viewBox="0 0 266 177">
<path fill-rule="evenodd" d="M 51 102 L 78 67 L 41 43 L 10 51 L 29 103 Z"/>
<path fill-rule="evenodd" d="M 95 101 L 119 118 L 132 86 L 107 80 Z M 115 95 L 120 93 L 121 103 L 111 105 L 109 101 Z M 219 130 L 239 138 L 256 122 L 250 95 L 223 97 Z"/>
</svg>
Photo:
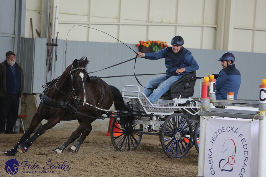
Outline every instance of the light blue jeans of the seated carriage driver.
<svg viewBox="0 0 266 177">
<path fill-rule="evenodd" d="M 180 78 L 180 76 L 171 76 L 167 78 L 166 75 L 151 78 L 147 81 L 146 88 L 157 88 L 155 91 L 153 91 L 153 89 L 145 89 L 144 94 L 148 97 L 151 103 L 154 103 L 170 89 L 175 81 Z"/>
</svg>

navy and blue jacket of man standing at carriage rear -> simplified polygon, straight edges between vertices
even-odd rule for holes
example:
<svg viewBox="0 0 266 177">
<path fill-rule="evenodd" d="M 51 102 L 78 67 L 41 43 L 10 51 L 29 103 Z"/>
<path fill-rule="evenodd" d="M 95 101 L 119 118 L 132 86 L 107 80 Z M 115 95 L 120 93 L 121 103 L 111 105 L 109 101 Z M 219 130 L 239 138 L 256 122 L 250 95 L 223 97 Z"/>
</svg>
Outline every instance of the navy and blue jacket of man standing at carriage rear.
<svg viewBox="0 0 266 177">
<path fill-rule="evenodd" d="M 241 84 L 241 75 L 236 66 L 229 65 L 228 68 L 223 68 L 219 74 L 214 74 L 214 76 L 217 78 L 215 83 L 216 100 L 226 100 L 227 92 L 234 92 L 234 100 L 236 100 Z"/>
</svg>

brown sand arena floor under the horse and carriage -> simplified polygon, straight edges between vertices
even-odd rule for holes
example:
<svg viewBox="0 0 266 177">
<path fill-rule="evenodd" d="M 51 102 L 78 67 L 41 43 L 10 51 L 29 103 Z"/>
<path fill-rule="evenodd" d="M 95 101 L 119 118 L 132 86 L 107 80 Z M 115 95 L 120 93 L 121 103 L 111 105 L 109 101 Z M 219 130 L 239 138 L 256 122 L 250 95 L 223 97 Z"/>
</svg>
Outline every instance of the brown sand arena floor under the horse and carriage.
<svg viewBox="0 0 266 177">
<path fill-rule="evenodd" d="M 194 147 L 185 157 L 170 159 L 163 152 L 159 137 L 155 135 L 143 135 L 141 144 L 135 151 L 117 152 L 110 136 L 105 136 L 106 131 L 93 130 L 77 153 L 63 151 L 56 154 L 53 149 L 66 141 L 72 131 L 47 130 L 26 154 L 18 153 L 14 157 L 0 155 L 0 175 L 11 176 L 5 170 L 5 163 L 10 158 L 16 158 L 19 167 L 17 174 L 13 176 L 197 176 L 198 152 Z M 2 152 L 13 148 L 21 136 L 22 134 L 1 134 Z M 25 164 L 28 166 L 23 166 Z M 36 169 L 37 165 L 39 169 Z"/>
</svg>

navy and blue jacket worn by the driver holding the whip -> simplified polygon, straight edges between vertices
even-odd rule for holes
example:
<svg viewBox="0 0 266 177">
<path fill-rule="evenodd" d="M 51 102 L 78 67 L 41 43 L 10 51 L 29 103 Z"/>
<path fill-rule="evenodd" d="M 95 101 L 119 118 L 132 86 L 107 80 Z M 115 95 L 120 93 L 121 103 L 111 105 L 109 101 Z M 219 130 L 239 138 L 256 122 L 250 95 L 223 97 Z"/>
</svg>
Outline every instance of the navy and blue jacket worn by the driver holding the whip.
<svg viewBox="0 0 266 177">
<path fill-rule="evenodd" d="M 177 69 L 185 68 L 186 72 L 182 72 L 179 76 L 188 74 L 189 72 L 196 71 L 199 69 L 197 61 L 192 56 L 191 52 L 186 48 L 182 47 L 177 53 L 172 51 L 172 47 L 166 47 L 158 52 L 145 53 L 146 59 L 158 60 L 161 58 L 165 59 L 166 73 L 176 72 Z M 171 76 L 166 74 L 166 76 Z"/>
</svg>

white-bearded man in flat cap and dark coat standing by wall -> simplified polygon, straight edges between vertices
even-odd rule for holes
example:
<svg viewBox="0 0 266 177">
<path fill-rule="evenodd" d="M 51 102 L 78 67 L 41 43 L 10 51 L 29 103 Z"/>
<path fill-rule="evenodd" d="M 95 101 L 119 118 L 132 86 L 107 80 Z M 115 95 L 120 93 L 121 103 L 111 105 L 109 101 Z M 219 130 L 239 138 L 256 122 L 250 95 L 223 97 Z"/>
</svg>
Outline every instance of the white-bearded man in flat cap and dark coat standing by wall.
<svg viewBox="0 0 266 177">
<path fill-rule="evenodd" d="M 18 117 L 19 97 L 23 94 L 24 76 L 12 51 L 0 64 L 0 134 L 14 134 L 13 127 Z M 7 119 L 7 128 L 5 131 Z"/>
</svg>

